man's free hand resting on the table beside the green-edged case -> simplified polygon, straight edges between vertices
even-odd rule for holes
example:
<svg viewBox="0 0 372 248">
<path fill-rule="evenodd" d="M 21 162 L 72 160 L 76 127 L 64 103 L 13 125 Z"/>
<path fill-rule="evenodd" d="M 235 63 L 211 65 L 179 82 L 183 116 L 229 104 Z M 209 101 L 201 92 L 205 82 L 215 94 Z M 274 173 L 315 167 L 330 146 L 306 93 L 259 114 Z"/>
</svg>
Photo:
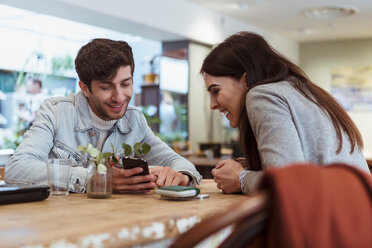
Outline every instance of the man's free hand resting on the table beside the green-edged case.
<svg viewBox="0 0 372 248">
<path fill-rule="evenodd" d="M 156 185 L 159 187 L 176 185 L 186 186 L 189 182 L 189 176 L 173 170 L 168 166 L 156 166 L 150 168 L 150 174 L 156 177 Z"/>
</svg>

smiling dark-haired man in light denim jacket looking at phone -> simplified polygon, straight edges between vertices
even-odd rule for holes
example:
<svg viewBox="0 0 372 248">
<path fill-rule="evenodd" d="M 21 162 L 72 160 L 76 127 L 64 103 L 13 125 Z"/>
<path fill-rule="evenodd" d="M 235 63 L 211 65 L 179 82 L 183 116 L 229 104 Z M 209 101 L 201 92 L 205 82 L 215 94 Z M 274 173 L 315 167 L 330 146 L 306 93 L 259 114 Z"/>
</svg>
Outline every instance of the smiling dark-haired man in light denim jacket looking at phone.
<svg viewBox="0 0 372 248">
<path fill-rule="evenodd" d="M 83 46 L 76 59 L 81 91 L 68 97 L 46 100 L 15 154 L 6 164 L 10 183 L 46 184 L 47 158 L 73 158 L 70 190 L 84 192 L 86 157 L 77 147 L 91 143 L 102 152 L 122 151 L 123 142 L 146 142 L 150 175 L 138 176 L 141 168 L 113 168 L 114 192 L 146 192 L 156 185 L 199 183 L 195 166 L 156 137 L 143 114 L 128 106 L 133 94 L 134 60 L 124 41 L 94 39 Z M 122 153 L 121 153 L 122 154 Z M 123 155 L 121 155 L 123 156 Z"/>
</svg>

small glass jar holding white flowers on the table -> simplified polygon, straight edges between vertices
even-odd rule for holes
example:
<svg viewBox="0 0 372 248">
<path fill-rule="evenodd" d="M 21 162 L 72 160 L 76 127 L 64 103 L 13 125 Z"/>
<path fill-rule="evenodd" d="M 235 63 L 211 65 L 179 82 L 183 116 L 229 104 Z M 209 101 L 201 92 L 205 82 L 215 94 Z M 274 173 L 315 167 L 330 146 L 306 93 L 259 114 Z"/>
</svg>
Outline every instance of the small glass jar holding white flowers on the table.
<svg viewBox="0 0 372 248">
<path fill-rule="evenodd" d="M 101 153 L 92 144 L 87 147 L 79 145 L 78 151 L 88 153 L 89 166 L 87 178 L 87 196 L 89 198 L 109 198 L 112 195 L 112 169 L 118 163 L 114 146 L 111 144 L 112 153 Z"/>
</svg>

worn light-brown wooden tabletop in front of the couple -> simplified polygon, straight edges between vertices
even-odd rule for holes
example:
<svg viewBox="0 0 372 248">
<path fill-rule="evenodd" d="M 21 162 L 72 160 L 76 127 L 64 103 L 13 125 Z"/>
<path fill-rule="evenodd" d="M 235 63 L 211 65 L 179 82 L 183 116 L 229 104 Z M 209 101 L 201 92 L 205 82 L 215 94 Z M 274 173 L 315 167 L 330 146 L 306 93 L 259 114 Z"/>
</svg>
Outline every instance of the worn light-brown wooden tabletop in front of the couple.
<svg viewBox="0 0 372 248">
<path fill-rule="evenodd" d="M 247 199 L 222 194 L 203 180 L 205 200 L 169 201 L 154 193 L 50 196 L 40 202 L 0 206 L 0 247 L 125 247 L 175 237 L 201 219 Z M 58 246 L 59 245 L 59 246 Z"/>
</svg>

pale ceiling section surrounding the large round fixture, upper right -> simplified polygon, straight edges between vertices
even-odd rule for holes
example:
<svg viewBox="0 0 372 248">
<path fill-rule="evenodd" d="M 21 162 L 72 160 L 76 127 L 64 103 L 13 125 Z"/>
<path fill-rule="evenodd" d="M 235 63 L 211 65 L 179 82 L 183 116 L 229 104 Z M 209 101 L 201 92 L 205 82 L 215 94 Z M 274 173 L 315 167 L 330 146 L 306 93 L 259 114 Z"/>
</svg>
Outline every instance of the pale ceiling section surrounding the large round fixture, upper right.
<svg viewBox="0 0 372 248">
<path fill-rule="evenodd" d="M 372 38 L 371 0 L 184 0 L 299 42 Z M 314 19 L 303 11 L 315 7 L 353 7 L 357 13 Z"/>
</svg>

